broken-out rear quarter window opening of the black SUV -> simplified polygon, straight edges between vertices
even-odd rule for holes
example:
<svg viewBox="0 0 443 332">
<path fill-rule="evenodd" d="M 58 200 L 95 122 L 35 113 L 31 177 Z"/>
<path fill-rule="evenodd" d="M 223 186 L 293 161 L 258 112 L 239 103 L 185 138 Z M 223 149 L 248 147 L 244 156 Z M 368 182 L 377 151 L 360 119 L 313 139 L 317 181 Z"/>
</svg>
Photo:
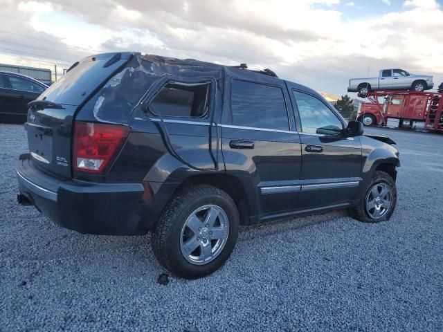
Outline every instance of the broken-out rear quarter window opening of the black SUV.
<svg viewBox="0 0 443 332">
<path fill-rule="evenodd" d="M 209 107 L 210 83 L 168 83 L 151 100 L 150 111 L 157 115 L 201 118 Z"/>
</svg>

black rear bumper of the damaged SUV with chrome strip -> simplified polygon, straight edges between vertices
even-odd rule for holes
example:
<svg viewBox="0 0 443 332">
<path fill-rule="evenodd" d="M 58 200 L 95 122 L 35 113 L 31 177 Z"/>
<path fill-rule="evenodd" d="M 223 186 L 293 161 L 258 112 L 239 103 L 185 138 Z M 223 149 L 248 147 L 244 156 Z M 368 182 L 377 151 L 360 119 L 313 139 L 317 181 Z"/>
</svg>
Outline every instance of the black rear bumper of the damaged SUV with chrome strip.
<svg viewBox="0 0 443 332">
<path fill-rule="evenodd" d="M 17 165 L 19 191 L 37 210 L 64 228 L 87 234 L 146 234 L 165 199 L 145 194 L 141 183 L 89 183 L 48 176 L 28 154 Z M 162 185 L 163 191 L 168 185 Z"/>
</svg>

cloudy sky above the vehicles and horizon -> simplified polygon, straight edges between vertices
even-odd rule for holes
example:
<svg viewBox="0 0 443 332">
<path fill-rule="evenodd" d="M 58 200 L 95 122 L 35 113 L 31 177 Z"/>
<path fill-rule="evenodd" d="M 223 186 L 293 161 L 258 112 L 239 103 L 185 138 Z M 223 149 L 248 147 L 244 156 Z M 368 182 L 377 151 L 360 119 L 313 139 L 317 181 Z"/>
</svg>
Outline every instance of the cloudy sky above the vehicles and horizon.
<svg viewBox="0 0 443 332">
<path fill-rule="evenodd" d="M 351 77 L 374 77 L 381 68 L 433 75 L 437 86 L 442 2 L 0 0 L 0 63 L 57 64 L 62 73 L 87 55 L 134 50 L 271 68 L 335 95 L 347 93 Z"/>
</svg>

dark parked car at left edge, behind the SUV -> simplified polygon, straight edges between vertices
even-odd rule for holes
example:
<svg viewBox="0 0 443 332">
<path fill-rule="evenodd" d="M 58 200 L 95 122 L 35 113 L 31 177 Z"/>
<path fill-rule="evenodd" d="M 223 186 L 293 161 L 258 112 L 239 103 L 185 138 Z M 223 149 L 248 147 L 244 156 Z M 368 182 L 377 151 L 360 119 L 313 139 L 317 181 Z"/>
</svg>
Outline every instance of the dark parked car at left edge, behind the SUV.
<svg viewBox="0 0 443 332">
<path fill-rule="evenodd" d="M 25 122 L 28 102 L 48 86 L 32 77 L 0 71 L 0 122 Z"/>
</svg>

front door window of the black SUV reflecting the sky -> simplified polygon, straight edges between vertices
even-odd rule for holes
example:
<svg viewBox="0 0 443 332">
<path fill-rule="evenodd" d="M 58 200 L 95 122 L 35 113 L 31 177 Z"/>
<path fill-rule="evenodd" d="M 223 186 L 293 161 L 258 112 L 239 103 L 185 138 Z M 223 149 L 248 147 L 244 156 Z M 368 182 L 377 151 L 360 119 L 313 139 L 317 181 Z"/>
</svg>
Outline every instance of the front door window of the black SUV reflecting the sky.
<svg viewBox="0 0 443 332">
<path fill-rule="evenodd" d="M 343 124 L 323 102 L 298 91 L 293 91 L 293 96 L 296 98 L 303 133 L 333 136 L 341 134 Z"/>
</svg>

